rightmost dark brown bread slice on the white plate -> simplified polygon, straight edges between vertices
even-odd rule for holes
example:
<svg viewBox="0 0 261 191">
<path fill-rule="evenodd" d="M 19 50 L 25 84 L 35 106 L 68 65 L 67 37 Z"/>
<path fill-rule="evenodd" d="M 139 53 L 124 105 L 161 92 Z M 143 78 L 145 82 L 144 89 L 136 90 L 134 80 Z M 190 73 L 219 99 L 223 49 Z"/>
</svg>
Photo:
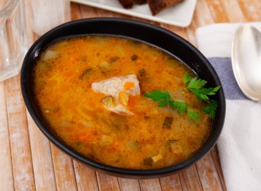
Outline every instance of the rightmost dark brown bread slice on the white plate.
<svg viewBox="0 0 261 191">
<path fill-rule="evenodd" d="M 183 0 L 148 0 L 148 5 L 150 6 L 152 15 L 155 15 L 161 10 L 168 8 L 170 5 L 174 5 L 181 1 Z"/>
</svg>

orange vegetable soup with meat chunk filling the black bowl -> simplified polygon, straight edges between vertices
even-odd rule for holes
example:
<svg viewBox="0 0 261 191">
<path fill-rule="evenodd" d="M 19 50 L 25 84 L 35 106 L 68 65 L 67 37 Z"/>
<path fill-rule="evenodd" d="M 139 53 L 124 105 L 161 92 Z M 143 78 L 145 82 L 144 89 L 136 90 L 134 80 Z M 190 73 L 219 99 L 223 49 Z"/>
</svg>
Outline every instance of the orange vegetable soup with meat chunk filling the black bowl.
<svg viewBox="0 0 261 191">
<path fill-rule="evenodd" d="M 193 75 L 149 44 L 76 36 L 41 53 L 34 94 L 49 127 L 78 153 L 120 168 L 162 168 L 187 160 L 209 135 L 212 120 L 185 88 L 187 73 Z M 148 94 L 153 90 L 161 95 L 168 90 L 168 98 L 186 103 L 200 117 L 192 120 L 163 99 L 159 105 Z"/>
</svg>

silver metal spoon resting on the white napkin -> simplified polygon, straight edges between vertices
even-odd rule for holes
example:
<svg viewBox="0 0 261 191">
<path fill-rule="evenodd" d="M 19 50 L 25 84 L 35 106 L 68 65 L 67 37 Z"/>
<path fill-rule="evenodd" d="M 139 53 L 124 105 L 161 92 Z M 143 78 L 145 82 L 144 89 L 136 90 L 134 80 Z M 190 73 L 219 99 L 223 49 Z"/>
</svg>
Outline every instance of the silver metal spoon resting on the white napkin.
<svg viewBox="0 0 261 191">
<path fill-rule="evenodd" d="M 232 68 L 238 86 L 253 101 L 261 102 L 261 33 L 255 27 L 238 27 L 232 42 Z"/>
</svg>

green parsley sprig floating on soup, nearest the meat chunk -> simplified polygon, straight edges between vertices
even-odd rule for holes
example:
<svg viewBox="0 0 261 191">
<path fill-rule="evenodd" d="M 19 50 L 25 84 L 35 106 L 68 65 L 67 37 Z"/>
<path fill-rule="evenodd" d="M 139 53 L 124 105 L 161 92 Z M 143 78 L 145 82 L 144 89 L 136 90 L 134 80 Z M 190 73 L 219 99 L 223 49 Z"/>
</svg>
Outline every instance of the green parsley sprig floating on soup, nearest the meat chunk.
<svg viewBox="0 0 261 191">
<path fill-rule="evenodd" d="M 185 103 L 185 101 L 177 101 L 172 99 L 168 90 L 153 90 L 152 92 L 146 93 L 145 97 L 148 97 L 153 101 L 158 101 L 159 107 L 169 105 L 172 109 L 177 110 L 179 114 L 187 112 L 188 118 L 191 120 L 197 121 L 200 117 L 198 112 L 188 109 L 188 103 Z"/>
</svg>

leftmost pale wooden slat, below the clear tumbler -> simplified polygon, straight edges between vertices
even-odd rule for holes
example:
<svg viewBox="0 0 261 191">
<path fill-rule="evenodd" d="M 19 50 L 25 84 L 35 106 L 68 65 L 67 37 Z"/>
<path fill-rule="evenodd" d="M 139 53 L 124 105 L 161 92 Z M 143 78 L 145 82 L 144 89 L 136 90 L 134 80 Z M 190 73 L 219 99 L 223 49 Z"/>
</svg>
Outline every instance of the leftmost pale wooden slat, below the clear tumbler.
<svg viewBox="0 0 261 191">
<path fill-rule="evenodd" d="M 14 190 L 5 90 L 0 82 L 0 190 Z"/>
</svg>

